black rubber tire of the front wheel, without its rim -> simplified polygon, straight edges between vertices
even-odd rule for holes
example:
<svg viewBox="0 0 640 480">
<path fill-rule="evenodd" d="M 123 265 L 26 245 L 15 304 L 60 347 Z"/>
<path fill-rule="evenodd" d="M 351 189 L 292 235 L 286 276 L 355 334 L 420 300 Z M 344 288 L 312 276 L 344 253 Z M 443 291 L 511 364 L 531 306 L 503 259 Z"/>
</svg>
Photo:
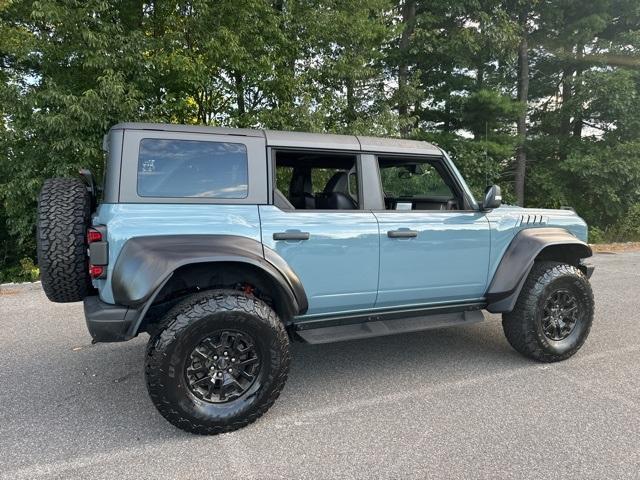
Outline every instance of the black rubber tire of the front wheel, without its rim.
<svg viewBox="0 0 640 480">
<path fill-rule="evenodd" d="M 558 291 L 567 291 L 577 303 L 577 321 L 562 340 L 548 338 L 543 329 L 544 307 Z M 575 354 L 584 344 L 593 322 L 593 292 L 586 276 L 573 265 L 536 262 L 515 308 L 502 315 L 502 328 L 511 346 L 540 362 L 557 362 Z"/>
</svg>

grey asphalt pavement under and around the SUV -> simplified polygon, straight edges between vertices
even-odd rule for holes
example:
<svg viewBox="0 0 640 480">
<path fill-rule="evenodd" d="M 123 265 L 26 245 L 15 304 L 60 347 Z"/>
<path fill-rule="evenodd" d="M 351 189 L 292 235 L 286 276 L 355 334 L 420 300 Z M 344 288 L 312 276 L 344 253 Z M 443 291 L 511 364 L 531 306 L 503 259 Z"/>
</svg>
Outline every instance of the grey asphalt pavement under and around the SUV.
<svg viewBox="0 0 640 480">
<path fill-rule="evenodd" d="M 0 478 L 640 478 L 640 253 L 593 259 L 596 320 L 553 365 L 499 317 L 294 345 L 257 423 L 175 429 L 147 398 L 146 335 L 91 345 L 80 304 L 0 290 Z"/>
</svg>

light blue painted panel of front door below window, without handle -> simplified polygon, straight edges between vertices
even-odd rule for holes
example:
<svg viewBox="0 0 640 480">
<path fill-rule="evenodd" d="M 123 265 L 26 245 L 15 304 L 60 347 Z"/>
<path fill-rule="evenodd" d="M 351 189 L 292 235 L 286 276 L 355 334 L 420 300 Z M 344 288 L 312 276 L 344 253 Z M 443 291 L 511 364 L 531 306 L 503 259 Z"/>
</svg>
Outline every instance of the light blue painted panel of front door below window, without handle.
<svg viewBox="0 0 640 480">
<path fill-rule="evenodd" d="M 481 212 L 376 212 L 380 283 L 376 307 L 480 298 L 487 288 L 490 234 Z M 415 238 L 389 238 L 409 229 Z"/>
</svg>

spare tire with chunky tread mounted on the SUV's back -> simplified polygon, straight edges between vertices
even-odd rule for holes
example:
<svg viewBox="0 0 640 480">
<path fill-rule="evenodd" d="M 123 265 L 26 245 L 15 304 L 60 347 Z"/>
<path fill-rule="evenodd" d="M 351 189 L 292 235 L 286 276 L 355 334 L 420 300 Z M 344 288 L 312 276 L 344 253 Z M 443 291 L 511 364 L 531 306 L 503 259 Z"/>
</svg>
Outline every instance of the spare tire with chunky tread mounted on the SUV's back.
<svg viewBox="0 0 640 480">
<path fill-rule="evenodd" d="M 91 196 L 80 179 L 44 182 L 36 241 L 42 288 L 52 302 L 78 302 L 92 290 L 86 240 L 90 221 Z"/>
</svg>

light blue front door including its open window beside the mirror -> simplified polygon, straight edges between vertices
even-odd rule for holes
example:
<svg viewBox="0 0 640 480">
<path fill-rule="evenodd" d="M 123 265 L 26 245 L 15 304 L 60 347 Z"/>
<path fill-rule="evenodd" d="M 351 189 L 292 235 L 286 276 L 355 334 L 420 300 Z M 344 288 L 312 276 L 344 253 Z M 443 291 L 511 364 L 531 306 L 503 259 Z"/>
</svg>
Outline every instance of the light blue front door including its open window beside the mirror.
<svg viewBox="0 0 640 480">
<path fill-rule="evenodd" d="M 384 211 L 376 307 L 466 302 L 487 287 L 490 231 L 444 159 L 379 157 Z"/>
</svg>

